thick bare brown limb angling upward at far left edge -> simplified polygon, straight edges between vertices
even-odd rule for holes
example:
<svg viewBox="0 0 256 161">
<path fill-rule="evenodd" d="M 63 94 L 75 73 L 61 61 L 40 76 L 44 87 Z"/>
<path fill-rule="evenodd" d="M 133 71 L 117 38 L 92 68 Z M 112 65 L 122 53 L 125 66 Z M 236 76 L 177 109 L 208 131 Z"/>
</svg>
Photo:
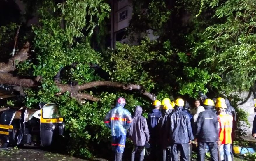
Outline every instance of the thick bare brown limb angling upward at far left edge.
<svg viewBox="0 0 256 161">
<path fill-rule="evenodd" d="M 0 63 L 0 72 L 10 72 L 15 70 L 17 63 L 28 59 L 29 42 L 25 43 L 22 49 L 13 57 L 9 59 L 7 63 Z"/>
</svg>

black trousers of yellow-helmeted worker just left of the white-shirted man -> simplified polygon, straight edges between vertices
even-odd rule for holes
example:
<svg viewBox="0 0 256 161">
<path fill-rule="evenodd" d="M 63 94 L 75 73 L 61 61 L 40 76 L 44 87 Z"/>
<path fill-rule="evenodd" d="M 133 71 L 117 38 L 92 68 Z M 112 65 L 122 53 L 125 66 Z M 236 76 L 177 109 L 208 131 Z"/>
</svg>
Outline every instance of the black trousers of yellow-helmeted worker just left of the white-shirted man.
<svg viewBox="0 0 256 161">
<path fill-rule="evenodd" d="M 172 144 L 171 145 L 171 158 L 172 161 L 179 161 L 179 153 L 180 152 L 180 160 L 181 161 L 189 161 L 189 144 Z"/>
</svg>

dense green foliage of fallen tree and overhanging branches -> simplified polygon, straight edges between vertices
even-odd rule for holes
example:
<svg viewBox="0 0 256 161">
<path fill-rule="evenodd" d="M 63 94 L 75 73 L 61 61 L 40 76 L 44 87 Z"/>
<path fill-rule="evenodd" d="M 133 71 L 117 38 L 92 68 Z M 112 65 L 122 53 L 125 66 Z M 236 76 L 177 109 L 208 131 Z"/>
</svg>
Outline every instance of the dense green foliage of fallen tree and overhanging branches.
<svg viewBox="0 0 256 161">
<path fill-rule="evenodd" d="M 247 90 L 255 82 L 253 1 L 181 0 L 169 4 L 135 0 L 133 3 L 134 14 L 127 34 L 130 37 L 138 34 L 139 45 L 117 43 L 116 49 L 102 49 L 104 53 L 91 47 L 92 32 L 97 26 L 102 36 L 106 27 L 104 18 L 109 16 L 110 7 L 103 0 L 38 3 L 39 24 L 32 26 L 32 34 L 21 36 L 29 36 L 34 52 L 15 72 L 41 76 L 38 88 L 24 89 L 26 105 L 35 107 L 40 101 L 59 105 L 67 125 L 67 151 L 72 155 L 90 158 L 99 149 L 101 155 L 107 155 L 105 151 L 109 149 L 105 147 L 110 136 L 102 120 L 118 96 L 127 100 L 126 108 L 131 112 L 141 105 L 144 116 L 151 110 L 151 102 L 134 91 L 107 87 L 82 91 L 101 98 L 100 101 L 78 102 L 69 92 L 59 94 L 53 77 L 61 68 L 62 84 L 98 80 L 133 83 L 155 93 L 160 100 L 182 96 L 192 102 L 191 98 L 203 91 L 209 92 L 210 97 L 229 96 L 233 98 L 232 105 L 236 105 L 238 98 L 229 95 L 230 92 Z M 6 44 L 16 28 L 15 24 L 0 28 L 0 49 L 7 55 L 5 58 L 10 57 L 12 48 L 8 51 Z M 148 29 L 159 38 L 154 41 L 144 38 Z M 99 40 L 99 35 L 96 36 L 98 45 L 104 47 L 99 44 L 104 42 Z M 71 67 L 73 63 L 76 67 Z M 91 68 L 91 64 L 100 66 L 105 76 Z M 247 113 L 235 108 L 238 125 L 247 124 Z M 239 129 L 237 136 L 241 135 L 244 131 Z"/>
</svg>

